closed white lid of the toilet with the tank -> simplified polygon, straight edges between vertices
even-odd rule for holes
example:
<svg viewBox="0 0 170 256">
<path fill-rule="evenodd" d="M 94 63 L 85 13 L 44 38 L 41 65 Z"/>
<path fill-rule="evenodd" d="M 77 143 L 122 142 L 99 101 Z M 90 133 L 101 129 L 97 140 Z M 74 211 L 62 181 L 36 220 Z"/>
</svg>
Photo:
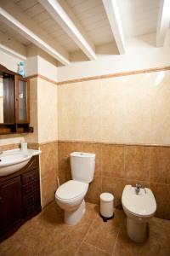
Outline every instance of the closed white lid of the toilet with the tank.
<svg viewBox="0 0 170 256">
<path fill-rule="evenodd" d="M 88 183 L 82 183 L 76 180 L 69 180 L 59 186 L 55 196 L 61 200 L 73 200 L 82 195 L 88 189 Z"/>
</svg>

